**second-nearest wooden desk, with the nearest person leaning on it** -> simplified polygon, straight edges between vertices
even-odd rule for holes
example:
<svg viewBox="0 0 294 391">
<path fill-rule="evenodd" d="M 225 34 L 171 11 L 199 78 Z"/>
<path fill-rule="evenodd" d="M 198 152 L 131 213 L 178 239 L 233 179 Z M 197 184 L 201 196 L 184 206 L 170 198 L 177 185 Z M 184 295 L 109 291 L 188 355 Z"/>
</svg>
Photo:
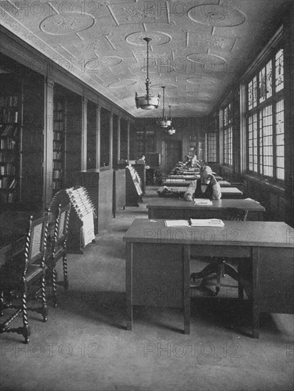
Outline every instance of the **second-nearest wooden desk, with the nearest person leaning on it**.
<svg viewBox="0 0 294 391">
<path fill-rule="evenodd" d="M 224 208 L 247 209 L 248 220 L 263 220 L 266 211 L 255 200 L 212 200 L 212 205 L 195 205 L 179 198 L 153 198 L 147 205 L 148 218 L 187 220 L 188 218 L 221 218 Z"/>
</svg>

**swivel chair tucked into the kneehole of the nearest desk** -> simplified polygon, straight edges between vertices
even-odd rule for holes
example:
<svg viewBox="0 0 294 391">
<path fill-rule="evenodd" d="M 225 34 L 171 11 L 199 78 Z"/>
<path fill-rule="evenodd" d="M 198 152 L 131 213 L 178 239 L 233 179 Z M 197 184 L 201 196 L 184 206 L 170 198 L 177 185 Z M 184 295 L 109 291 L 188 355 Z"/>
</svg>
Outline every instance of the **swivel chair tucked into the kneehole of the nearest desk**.
<svg viewBox="0 0 294 391">
<path fill-rule="evenodd" d="M 248 215 L 248 210 L 239 209 L 239 208 L 226 208 L 224 213 L 222 213 L 222 220 L 233 220 L 233 221 L 245 221 Z M 237 270 L 231 264 L 229 264 L 230 259 L 224 257 L 213 257 L 211 262 L 198 273 L 191 273 L 190 279 L 191 282 L 195 282 L 195 279 L 204 279 L 211 274 L 216 274 L 216 295 L 221 289 L 221 277 L 225 277 L 228 274 L 231 278 L 235 279 L 238 282 L 238 297 L 243 297 L 243 287 L 240 283 L 240 278 Z M 231 259 L 232 261 L 232 259 Z"/>
</svg>

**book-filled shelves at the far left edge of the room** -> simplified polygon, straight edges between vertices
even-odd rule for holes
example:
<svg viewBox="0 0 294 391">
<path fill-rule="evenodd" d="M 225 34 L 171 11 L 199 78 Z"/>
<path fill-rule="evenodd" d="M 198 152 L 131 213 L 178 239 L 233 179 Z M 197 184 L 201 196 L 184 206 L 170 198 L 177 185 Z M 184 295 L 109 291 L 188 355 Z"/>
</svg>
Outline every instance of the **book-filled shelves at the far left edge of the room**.
<svg viewBox="0 0 294 391">
<path fill-rule="evenodd" d="M 0 203 L 17 202 L 19 189 L 19 139 L 21 104 L 19 95 L 0 96 Z"/>
</svg>

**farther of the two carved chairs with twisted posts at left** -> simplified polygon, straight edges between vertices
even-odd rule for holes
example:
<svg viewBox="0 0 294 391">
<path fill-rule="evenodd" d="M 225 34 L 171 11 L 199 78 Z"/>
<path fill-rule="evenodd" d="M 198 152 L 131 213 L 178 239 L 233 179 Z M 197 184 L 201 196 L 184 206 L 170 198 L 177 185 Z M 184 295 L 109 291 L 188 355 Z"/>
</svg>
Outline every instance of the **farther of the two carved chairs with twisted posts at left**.
<svg viewBox="0 0 294 391">
<path fill-rule="evenodd" d="M 56 214 L 56 221 L 54 227 L 53 240 L 51 242 L 51 251 L 48 257 L 48 264 L 51 269 L 52 275 L 52 289 L 53 289 L 53 306 L 57 306 L 56 299 L 56 284 L 57 284 L 57 272 L 56 264 L 59 259 L 63 259 L 63 287 L 68 289 L 68 264 L 67 264 L 67 252 L 66 242 L 68 239 L 68 220 L 70 215 L 70 204 L 61 207 L 58 205 Z"/>
</svg>

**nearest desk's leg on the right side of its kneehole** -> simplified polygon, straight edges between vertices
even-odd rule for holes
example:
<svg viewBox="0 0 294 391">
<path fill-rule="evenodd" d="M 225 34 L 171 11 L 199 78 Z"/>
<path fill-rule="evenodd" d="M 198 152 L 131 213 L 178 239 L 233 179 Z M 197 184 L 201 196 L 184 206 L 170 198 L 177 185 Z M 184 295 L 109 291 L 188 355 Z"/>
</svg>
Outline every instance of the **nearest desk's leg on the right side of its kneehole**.
<svg viewBox="0 0 294 391">
<path fill-rule="evenodd" d="M 253 247 L 252 250 L 253 262 L 253 286 L 252 286 L 252 300 L 253 300 L 253 338 L 259 337 L 259 249 Z"/>
</svg>

